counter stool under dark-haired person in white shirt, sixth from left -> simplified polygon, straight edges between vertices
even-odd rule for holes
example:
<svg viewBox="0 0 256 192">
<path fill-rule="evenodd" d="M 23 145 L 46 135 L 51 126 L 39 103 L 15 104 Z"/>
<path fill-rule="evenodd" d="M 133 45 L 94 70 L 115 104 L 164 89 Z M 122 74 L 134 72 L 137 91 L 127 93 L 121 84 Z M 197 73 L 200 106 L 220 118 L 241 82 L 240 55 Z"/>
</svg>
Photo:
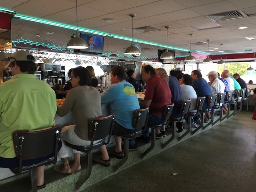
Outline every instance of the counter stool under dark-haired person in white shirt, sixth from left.
<svg viewBox="0 0 256 192">
<path fill-rule="evenodd" d="M 186 136 L 190 132 L 192 117 L 196 117 L 199 114 L 203 114 L 202 109 L 204 106 L 204 100 L 205 100 L 205 97 L 198 97 L 196 99 L 196 109 L 188 111 L 188 129 L 184 134 L 182 134 L 181 136 L 178 137 L 178 140 L 181 140 L 182 138 L 184 138 L 184 136 Z"/>
</svg>

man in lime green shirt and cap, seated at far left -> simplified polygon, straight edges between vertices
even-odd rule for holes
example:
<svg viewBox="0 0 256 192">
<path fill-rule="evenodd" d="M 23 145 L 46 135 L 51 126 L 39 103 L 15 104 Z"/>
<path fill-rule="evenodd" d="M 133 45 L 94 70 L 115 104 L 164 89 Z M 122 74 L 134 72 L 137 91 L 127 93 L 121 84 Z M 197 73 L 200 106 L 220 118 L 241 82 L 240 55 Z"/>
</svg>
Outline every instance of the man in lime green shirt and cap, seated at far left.
<svg viewBox="0 0 256 192">
<path fill-rule="evenodd" d="M 27 51 L 10 56 L 12 79 L 0 84 L 0 167 L 18 167 L 12 134 L 18 130 L 36 130 L 54 125 L 56 94 L 34 75 L 34 57 Z M 24 160 L 24 163 L 28 163 Z M 44 184 L 44 166 L 37 168 L 37 186 Z"/>
</svg>

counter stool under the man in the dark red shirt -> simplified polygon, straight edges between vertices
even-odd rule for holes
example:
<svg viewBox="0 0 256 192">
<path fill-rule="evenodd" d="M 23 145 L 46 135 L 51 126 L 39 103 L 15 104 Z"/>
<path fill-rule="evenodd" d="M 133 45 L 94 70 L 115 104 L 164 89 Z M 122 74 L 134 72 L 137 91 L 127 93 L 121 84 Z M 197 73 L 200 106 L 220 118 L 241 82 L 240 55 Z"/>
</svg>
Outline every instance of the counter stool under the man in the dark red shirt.
<svg viewBox="0 0 256 192">
<path fill-rule="evenodd" d="M 173 107 L 174 107 L 174 104 L 166 105 L 164 107 L 164 113 L 162 114 L 162 121 L 163 121 L 162 124 L 148 126 L 148 127 L 151 128 L 151 145 L 149 146 L 149 148 L 147 148 L 146 151 L 144 151 L 141 154 L 141 158 L 144 158 L 146 156 L 146 154 L 148 154 L 154 148 L 154 146 L 156 144 L 156 129 L 161 129 L 161 128 L 164 127 L 164 125 L 168 124 L 168 121 L 169 121 L 170 116 L 172 114 Z"/>
</svg>

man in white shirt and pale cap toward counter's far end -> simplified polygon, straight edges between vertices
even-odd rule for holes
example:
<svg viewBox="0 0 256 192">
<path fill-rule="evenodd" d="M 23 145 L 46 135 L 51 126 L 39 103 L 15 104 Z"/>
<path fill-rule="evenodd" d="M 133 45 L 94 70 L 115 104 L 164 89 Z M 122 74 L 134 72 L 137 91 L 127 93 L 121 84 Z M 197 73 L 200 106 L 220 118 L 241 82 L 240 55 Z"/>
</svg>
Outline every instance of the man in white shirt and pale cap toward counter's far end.
<svg viewBox="0 0 256 192">
<path fill-rule="evenodd" d="M 222 80 L 219 80 L 216 71 L 210 71 L 206 76 L 209 78 L 212 94 L 224 93 L 225 85 Z"/>
</svg>

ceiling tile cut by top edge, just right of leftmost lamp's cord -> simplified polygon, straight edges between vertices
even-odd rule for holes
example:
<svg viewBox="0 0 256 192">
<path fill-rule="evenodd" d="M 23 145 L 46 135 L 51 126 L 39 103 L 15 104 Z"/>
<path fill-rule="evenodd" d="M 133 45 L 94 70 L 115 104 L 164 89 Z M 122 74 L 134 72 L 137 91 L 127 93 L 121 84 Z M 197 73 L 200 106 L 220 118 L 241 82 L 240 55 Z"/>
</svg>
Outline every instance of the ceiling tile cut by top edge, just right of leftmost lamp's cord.
<svg viewBox="0 0 256 192">
<path fill-rule="evenodd" d="M 106 0 L 96 0 L 90 3 L 86 3 L 85 5 L 90 8 L 97 8 L 97 10 L 107 13 L 113 13 L 132 8 L 132 6 L 118 0 L 107 0 L 107 3 Z"/>
</svg>

